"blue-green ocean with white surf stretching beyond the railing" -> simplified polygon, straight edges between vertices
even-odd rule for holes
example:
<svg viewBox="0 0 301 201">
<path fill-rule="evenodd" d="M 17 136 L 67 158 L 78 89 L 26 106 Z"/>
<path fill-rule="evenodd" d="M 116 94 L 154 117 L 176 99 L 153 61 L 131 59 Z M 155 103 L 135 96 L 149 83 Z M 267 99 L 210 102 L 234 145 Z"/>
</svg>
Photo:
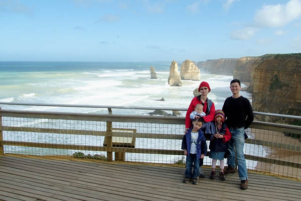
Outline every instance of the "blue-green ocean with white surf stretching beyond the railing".
<svg viewBox="0 0 301 201">
<path fill-rule="evenodd" d="M 183 86 L 168 84 L 172 61 L 163 62 L 0 62 L 0 102 L 71 104 L 126 107 L 188 108 L 193 90 L 201 81 L 210 84 L 208 94 L 221 109 L 232 76 L 201 71 L 201 80 L 182 80 Z M 181 62 L 178 62 L 179 71 Z M 158 79 L 150 79 L 153 66 Z M 242 85 L 243 87 L 244 85 Z M 241 91 L 251 101 L 251 94 Z M 164 98 L 165 101 L 158 101 Z M 57 108 L 0 105 L 7 110 L 59 111 L 107 114 L 107 109 Z M 148 115 L 141 110 L 113 109 L 113 114 Z M 185 112 L 182 113 L 185 115 Z M 252 137 L 252 136 L 250 136 Z M 246 150 L 264 155 L 264 150 Z"/>
</svg>

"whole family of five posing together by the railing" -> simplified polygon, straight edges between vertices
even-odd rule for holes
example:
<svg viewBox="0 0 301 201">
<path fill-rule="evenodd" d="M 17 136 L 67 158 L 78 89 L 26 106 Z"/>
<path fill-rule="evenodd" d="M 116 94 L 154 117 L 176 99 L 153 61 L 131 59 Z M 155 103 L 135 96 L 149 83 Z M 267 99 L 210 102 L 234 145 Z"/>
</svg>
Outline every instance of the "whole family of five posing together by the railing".
<svg viewBox="0 0 301 201">
<path fill-rule="evenodd" d="M 186 113 L 185 135 L 182 140 L 182 149 L 186 155 L 184 183 L 192 180 L 193 184 L 198 184 L 199 177 L 205 177 L 201 166 L 207 154 L 206 140 L 208 140 L 209 158 L 212 159 L 210 178 L 214 179 L 216 176 L 217 160 L 220 163 L 221 180 L 225 180 L 225 174 L 235 173 L 236 155 L 240 188 L 248 188 L 247 166 L 243 152 L 247 136 L 244 130 L 251 125 L 254 116 L 249 100 L 240 95 L 241 83 L 238 79 L 230 82 L 230 89 L 232 96 L 226 98 L 222 110 L 215 110 L 214 103 L 207 97 L 211 89 L 209 83 L 205 81 L 199 86 L 201 94 L 191 100 Z M 225 153 L 228 165 L 226 168 Z"/>
</svg>

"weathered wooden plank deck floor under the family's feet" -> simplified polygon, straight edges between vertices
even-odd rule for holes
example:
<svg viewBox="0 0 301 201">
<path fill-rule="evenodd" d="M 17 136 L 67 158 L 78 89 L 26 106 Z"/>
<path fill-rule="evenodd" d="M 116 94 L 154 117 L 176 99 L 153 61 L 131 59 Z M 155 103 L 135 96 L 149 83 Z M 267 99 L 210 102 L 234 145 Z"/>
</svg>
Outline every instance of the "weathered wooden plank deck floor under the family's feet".
<svg viewBox="0 0 301 201">
<path fill-rule="evenodd" d="M 182 183 L 184 167 L 0 156 L 0 200 L 300 200 L 301 181 L 249 173 Z"/>
</svg>

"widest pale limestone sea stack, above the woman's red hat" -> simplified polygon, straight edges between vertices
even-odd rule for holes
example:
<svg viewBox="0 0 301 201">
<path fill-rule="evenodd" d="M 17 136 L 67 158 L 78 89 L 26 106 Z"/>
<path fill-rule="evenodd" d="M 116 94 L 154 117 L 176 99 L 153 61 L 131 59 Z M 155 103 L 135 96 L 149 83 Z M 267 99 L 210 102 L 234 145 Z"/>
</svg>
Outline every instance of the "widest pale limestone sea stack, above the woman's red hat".
<svg viewBox="0 0 301 201">
<path fill-rule="evenodd" d="M 190 60 L 185 60 L 181 65 L 181 72 L 180 72 L 181 79 L 200 80 L 201 79 L 200 73 L 201 72 L 198 66 L 196 66 Z"/>
</svg>

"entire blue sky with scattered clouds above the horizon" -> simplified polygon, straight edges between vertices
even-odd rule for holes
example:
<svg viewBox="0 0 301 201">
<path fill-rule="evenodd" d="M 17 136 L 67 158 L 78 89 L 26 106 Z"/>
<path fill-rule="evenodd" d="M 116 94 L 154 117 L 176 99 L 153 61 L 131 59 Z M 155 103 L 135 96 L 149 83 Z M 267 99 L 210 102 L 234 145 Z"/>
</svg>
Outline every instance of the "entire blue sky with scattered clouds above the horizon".
<svg viewBox="0 0 301 201">
<path fill-rule="evenodd" d="M 301 0 L 0 0 L 0 61 L 206 61 L 301 52 Z"/>
</svg>

